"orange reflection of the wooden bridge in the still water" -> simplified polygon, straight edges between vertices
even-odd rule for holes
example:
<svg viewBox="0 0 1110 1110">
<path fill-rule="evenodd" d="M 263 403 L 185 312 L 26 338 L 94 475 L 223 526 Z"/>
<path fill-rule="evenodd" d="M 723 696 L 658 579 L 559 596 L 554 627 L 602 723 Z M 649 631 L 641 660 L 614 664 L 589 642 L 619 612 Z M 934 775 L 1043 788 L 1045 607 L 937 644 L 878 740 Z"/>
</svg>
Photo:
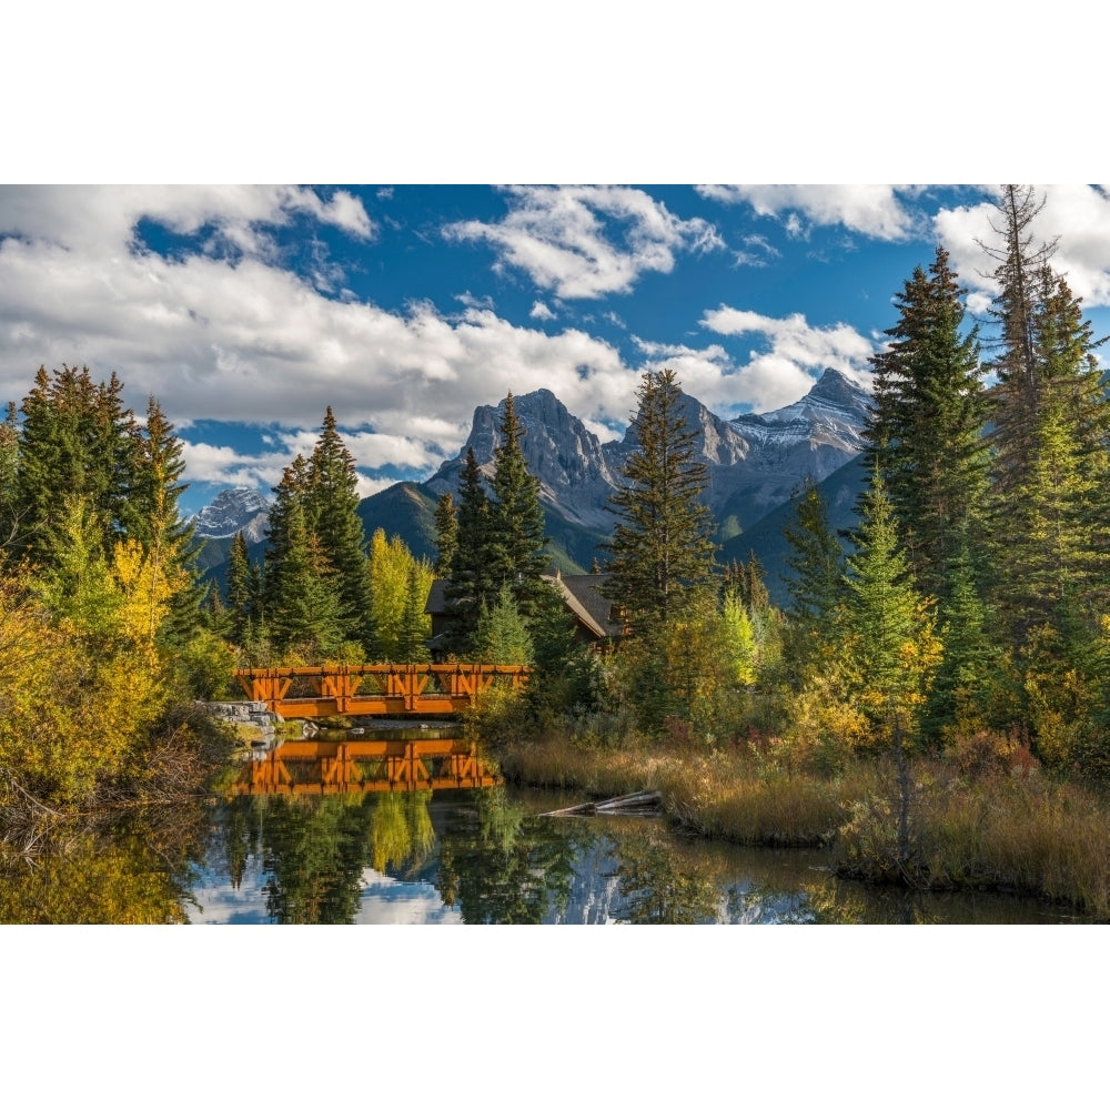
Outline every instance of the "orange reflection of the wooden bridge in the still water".
<svg viewBox="0 0 1110 1110">
<path fill-rule="evenodd" d="M 244 764 L 231 794 L 379 794 L 498 786 L 468 740 L 290 740 Z"/>
</svg>

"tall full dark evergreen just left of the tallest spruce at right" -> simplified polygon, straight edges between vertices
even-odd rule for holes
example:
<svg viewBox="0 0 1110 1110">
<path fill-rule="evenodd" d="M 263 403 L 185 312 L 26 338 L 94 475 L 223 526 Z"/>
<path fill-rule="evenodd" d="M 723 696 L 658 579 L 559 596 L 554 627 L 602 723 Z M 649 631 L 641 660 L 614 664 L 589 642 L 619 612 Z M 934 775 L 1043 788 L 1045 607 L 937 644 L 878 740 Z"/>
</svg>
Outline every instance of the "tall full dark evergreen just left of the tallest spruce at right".
<svg viewBox="0 0 1110 1110">
<path fill-rule="evenodd" d="M 865 463 L 884 475 L 918 587 L 937 597 L 949 591 L 957 536 L 982 534 L 987 494 L 987 402 L 963 293 L 938 246 L 928 274 L 915 270 L 896 299 L 889 345 L 870 360 Z"/>
</svg>

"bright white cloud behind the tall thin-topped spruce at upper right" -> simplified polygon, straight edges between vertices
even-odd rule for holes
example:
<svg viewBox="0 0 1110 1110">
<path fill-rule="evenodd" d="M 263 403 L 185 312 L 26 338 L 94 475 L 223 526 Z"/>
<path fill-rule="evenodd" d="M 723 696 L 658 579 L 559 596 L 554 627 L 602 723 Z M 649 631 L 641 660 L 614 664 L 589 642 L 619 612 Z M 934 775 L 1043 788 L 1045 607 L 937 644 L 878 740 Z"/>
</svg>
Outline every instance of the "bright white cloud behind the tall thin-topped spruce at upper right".
<svg viewBox="0 0 1110 1110">
<path fill-rule="evenodd" d="M 995 191 L 995 190 L 992 190 Z M 1106 185 L 1042 185 L 1045 206 L 1030 226 L 1035 245 L 1058 239 L 1052 266 L 1088 307 L 1110 305 L 1110 192 Z M 992 226 L 993 225 L 993 226 Z M 991 201 L 941 209 L 934 218 L 937 238 L 971 294 L 968 306 L 983 312 L 996 292 L 996 263 L 977 245 L 1002 245 L 1001 213 Z"/>
</svg>

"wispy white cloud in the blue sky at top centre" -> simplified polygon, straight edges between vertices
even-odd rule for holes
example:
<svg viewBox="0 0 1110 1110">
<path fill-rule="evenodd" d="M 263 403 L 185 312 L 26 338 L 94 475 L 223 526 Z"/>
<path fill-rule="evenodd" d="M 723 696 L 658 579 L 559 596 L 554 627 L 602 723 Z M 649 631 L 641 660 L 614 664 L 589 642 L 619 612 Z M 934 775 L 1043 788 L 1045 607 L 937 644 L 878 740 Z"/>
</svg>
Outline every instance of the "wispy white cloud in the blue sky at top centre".
<svg viewBox="0 0 1110 1110">
<path fill-rule="evenodd" d="M 500 223 L 448 224 L 448 240 L 483 241 L 498 265 L 525 271 L 561 297 L 627 293 L 646 272 L 670 273 L 680 251 L 724 246 L 713 224 L 682 220 L 643 190 L 612 185 L 519 186 L 505 190 Z"/>
</svg>

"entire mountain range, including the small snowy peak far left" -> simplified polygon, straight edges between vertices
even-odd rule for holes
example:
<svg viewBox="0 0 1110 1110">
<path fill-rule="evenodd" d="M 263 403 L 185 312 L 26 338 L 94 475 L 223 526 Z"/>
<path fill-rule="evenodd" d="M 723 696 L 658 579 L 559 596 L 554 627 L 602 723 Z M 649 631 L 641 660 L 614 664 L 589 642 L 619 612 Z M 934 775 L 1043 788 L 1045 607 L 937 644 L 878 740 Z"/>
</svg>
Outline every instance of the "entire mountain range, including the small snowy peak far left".
<svg viewBox="0 0 1110 1110">
<path fill-rule="evenodd" d="M 586 568 L 597 543 L 613 528 L 608 502 L 637 446 L 635 431 L 603 444 L 549 390 L 514 397 L 514 404 L 525 431 L 522 448 L 539 480 L 553 558 L 565 571 Z M 749 534 L 753 542 L 758 537 L 754 526 L 785 505 L 807 476 L 819 483 L 859 454 L 870 395 L 826 370 L 805 397 L 771 413 L 725 421 L 694 397 L 684 395 L 682 405 L 696 454 L 708 471 L 706 503 L 719 523 L 719 538 L 729 554 L 736 546 L 729 541 L 743 539 L 746 554 Z M 401 535 L 415 555 L 434 557 L 435 500 L 443 493 L 457 498 L 468 448 L 487 477 L 493 476 L 503 415 L 504 402 L 481 405 L 457 457 L 426 482 L 397 483 L 365 498 L 359 513 L 366 535 L 382 527 Z M 256 543 L 263 538 L 268 508 L 252 490 L 225 490 L 194 517 L 198 534 L 230 537 L 242 529 Z"/>
</svg>

